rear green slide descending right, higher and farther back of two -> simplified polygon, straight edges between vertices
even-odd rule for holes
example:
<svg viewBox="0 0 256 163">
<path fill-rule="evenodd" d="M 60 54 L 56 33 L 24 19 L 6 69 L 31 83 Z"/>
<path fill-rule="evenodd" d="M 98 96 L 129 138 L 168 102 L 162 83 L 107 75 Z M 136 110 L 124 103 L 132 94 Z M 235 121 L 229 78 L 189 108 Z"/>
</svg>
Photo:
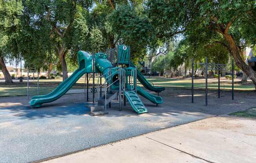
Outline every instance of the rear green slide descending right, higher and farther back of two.
<svg viewBox="0 0 256 163">
<path fill-rule="evenodd" d="M 132 62 L 131 62 L 131 67 L 136 67 Z M 146 80 L 146 78 L 143 76 L 143 74 L 141 74 L 141 72 L 137 69 L 137 78 L 139 80 L 139 82 L 141 82 L 141 84 L 148 90 L 150 91 L 154 91 L 154 92 L 162 92 L 165 90 L 165 87 L 154 87 L 153 85 L 151 85 L 148 80 Z"/>
</svg>

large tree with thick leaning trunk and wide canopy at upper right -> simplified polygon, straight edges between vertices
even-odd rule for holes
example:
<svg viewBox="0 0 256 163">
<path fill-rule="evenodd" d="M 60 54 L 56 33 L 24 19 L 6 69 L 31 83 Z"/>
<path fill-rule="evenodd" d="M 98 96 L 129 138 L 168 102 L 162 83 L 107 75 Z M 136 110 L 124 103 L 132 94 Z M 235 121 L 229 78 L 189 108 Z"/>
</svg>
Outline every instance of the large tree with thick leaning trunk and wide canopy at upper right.
<svg viewBox="0 0 256 163">
<path fill-rule="evenodd" d="M 256 43 L 255 9 L 254 0 L 149 0 L 147 3 L 148 16 L 158 36 L 168 39 L 183 33 L 193 46 L 216 40 L 212 44 L 225 47 L 256 87 L 256 73 L 242 58 L 243 48 Z M 219 38 L 224 41 L 218 41 Z"/>
</svg>

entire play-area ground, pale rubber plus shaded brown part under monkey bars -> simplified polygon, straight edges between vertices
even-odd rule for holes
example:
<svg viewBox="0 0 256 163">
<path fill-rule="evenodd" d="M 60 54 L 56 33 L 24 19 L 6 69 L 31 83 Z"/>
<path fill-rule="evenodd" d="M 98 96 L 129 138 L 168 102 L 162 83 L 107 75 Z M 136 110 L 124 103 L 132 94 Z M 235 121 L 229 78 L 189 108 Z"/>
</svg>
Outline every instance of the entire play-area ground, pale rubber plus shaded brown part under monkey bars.
<svg viewBox="0 0 256 163">
<path fill-rule="evenodd" d="M 254 94 L 236 93 L 232 101 L 229 94 L 219 100 L 209 91 L 205 107 L 204 92 L 196 93 L 191 104 L 189 90 L 170 88 L 160 93 L 164 103 L 158 107 L 141 97 L 146 114 L 136 114 L 128 103 L 120 112 L 113 102 L 109 114 L 95 117 L 84 108 L 84 94 L 64 95 L 39 109 L 26 106 L 26 97 L 1 98 L 0 106 L 9 107 L 0 108 L 0 163 L 46 159 L 255 106 Z"/>
</svg>

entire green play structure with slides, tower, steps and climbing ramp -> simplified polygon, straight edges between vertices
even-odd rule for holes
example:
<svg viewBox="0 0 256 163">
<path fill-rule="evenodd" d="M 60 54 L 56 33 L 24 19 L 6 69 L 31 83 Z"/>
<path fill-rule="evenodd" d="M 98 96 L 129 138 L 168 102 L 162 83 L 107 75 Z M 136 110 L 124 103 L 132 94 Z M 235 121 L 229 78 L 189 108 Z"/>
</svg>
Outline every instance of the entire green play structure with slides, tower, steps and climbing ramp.
<svg viewBox="0 0 256 163">
<path fill-rule="evenodd" d="M 137 114 L 148 112 L 138 94 L 148 99 L 152 103 L 158 105 L 163 103 L 160 96 L 150 94 L 141 87 L 137 86 L 137 79 L 148 90 L 157 92 L 164 91 L 164 87 L 154 87 L 146 78 L 137 71 L 137 68 L 130 60 L 130 47 L 126 45 L 119 45 L 114 49 L 108 49 L 105 53 L 89 54 L 85 51 L 78 52 L 79 68 L 73 72 L 69 78 L 64 80 L 51 93 L 40 96 L 33 96 L 29 104 L 32 107 L 41 107 L 44 103 L 49 103 L 57 100 L 63 96 L 76 82 L 86 74 L 86 97 L 88 98 L 88 75 L 92 74 L 93 87 L 91 93 L 93 94 L 93 101 L 87 104 L 86 107 L 91 109 L 90 115 L 107 114 L 107 105 L 111 107 L 111 101 L 119 100 L 119 110 L 122 110 L 122 97 L 124 105 L 126 105 L 126 98 L 133 110 Z M 95 74 L 99 73 L 100 77 L 95 87 Z M 102 78 L 105 79 L 102 83 Z M 102 96 L 102 88 L 104 95 Z M 98 101 L 95 103 L 95 94 L 98 91 Z M 123 95 L 123 96 L 122 96 Z"/>
</svg>

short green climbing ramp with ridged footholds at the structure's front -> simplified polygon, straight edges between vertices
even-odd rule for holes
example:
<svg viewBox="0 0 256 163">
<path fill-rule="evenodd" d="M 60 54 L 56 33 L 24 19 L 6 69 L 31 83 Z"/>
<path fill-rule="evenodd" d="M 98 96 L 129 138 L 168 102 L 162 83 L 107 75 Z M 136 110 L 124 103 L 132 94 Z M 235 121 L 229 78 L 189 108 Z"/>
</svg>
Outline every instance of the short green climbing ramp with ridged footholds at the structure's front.
<svg viewBox="0 0 256 163">
<path fill-rule="evenodd" d="M 134 91 L 125 91 L 124 95 L 128 99 L 130 105 L 132 106 L 135 112 L 137 112 L 138 114 L 148 112 L 148 109 L 146 109 L 137 93 L 135 93 Z"/>
</svg>

